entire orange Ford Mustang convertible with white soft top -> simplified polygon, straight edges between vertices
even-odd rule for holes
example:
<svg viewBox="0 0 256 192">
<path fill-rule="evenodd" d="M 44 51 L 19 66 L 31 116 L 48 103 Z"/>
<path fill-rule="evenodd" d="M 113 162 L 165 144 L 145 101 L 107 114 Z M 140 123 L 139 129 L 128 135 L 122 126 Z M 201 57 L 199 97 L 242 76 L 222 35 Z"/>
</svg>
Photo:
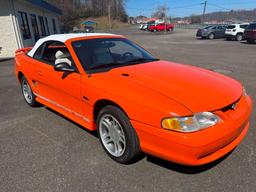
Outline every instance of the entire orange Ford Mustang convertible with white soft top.
<svg viewBox="0 0 256 192">
<path fill-rule="evenodd" d="M 106 153 L 140 152 L 202 165 L 232 151 L 249 128 L 243 86 L 205 69 L 161 61 L 123 36 L 61 34 L 16 51 L 25 101 L 97 130 Z"/>
</svg>

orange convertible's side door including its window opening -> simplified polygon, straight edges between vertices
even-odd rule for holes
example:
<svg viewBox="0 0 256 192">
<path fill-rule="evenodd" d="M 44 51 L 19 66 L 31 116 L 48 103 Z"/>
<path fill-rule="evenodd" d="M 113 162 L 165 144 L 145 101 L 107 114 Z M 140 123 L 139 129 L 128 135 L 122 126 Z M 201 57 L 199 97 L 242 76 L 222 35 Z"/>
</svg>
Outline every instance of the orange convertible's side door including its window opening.
<svg viewBox="0 0 256 192">
<path fill-rule="evenodd" d="M 82 113 L 81 75 L 77 72 L 60 72 L 54 70 L 55 55 L 57 51 L 69 51 L 61 42 L 45 42 L 34 55 L 37 60 L 35 84 L 37 96 L 55 107 L 61 108 L 71 114 Z M 72 58 L 72 65 L 75 66 Z"/>
</svg>

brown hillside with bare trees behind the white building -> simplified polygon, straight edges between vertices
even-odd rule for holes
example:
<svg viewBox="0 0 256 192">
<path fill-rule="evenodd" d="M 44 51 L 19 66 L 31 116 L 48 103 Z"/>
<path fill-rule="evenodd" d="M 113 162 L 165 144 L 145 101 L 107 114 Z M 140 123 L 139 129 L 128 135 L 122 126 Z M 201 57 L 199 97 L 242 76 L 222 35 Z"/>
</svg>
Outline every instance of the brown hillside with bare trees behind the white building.
<svg viewBox="0 0 256 192">
<path fill-rule="evenodd" d="M 125 0 L 51 0 L 52 4 L 62 10 L 60 22 L 62 31 L 70 31 L 78 27 L 82 21 L 93 20 L 98 29 L 109 28 L 108 16 L 112 28 L 127 22 Z"/>
</svg>

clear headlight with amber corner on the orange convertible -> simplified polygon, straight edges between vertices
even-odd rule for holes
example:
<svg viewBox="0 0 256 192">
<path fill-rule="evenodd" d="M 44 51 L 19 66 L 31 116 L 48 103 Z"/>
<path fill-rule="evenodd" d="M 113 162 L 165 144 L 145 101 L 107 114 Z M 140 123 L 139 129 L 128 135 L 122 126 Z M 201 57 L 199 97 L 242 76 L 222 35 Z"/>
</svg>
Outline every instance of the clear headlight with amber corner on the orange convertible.
<svg viewBox="0 0 256 192">
<path fill-rule="evenodd" d="M 189 117 L 166 118 L 162 127 L 172 131 L 195 132 L 216 125 L 221 118 L 211 112 L 196 113 Z"/>
</svg>

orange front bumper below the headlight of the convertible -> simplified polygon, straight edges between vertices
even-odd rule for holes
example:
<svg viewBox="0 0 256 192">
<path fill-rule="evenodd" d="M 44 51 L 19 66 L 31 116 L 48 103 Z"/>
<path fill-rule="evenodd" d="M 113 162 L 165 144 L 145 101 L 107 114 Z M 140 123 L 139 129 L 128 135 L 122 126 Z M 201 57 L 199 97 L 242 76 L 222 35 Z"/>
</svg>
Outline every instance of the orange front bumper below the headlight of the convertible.
<svg viewBox="0 0 256 192">
<path fill-rule="evenodd" d="M 235 111 L 225 114 L 216 111 L 222 123 L 194 133 L 178 133 L 131 122 L 142 151 L 178 164 L 197 166 L 219 159 L 243 140 L 249 129 L 251 109 L 250 97 L 243 96 Z"/>
</svg>

